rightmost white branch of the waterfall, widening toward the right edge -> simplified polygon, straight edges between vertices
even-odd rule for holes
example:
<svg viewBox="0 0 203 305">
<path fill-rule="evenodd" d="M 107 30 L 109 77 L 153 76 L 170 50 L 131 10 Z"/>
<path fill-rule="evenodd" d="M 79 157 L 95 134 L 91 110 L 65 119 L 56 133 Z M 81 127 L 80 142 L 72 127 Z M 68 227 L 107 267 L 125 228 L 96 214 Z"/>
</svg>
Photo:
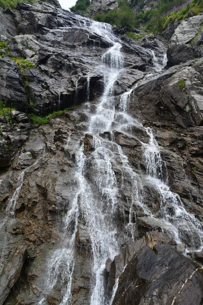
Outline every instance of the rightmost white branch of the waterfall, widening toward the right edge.
<svg viewBox="0 0 203 305">
<path fill-rule="evenodd" d="M 160 221 L 163 220 L 163 227 L 169 223 L 172 226 L 166 228 L 177 243 L 183 241 L 191 249 L 201 250 L 203 240 L 203 228 L 194 215 L 189 214 L 185 209 L 180 196 L 171 192 L 164 184 L 162 177 L 162 160 L 152 130 L 146 129 L 150 137 L 145 147 L 144 158 L 146 162 L 147 179 L 154 185 L 160 194 Z M 189 241 L 189 242 L 188 242 Z"/>
</svg>

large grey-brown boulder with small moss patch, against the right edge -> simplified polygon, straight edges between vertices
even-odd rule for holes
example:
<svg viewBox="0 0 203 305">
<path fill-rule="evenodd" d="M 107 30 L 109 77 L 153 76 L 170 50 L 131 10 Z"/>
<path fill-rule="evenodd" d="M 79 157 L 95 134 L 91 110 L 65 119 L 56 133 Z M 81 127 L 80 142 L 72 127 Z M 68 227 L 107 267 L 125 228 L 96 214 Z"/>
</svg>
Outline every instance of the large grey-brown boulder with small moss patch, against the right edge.
<svg viewBox="0 0 203 305">
<path fill-rule="evenodd" d="M 183 128 L 201 125 L 203 80 L 201 74 L 196 72 L 198 68 L 194 68 L 200 64 L 197 60 L 194 66 L 185 66 L 168 69 L 158 77 L 142 82 L 134 89 L 136 96 L 129 105 L 130 112 L 144 121 L 151 117 L 154 121 L 170 121 L 170 124 Z M 139 110 L 136 113 L 134 106 Z"/>
</svg>

